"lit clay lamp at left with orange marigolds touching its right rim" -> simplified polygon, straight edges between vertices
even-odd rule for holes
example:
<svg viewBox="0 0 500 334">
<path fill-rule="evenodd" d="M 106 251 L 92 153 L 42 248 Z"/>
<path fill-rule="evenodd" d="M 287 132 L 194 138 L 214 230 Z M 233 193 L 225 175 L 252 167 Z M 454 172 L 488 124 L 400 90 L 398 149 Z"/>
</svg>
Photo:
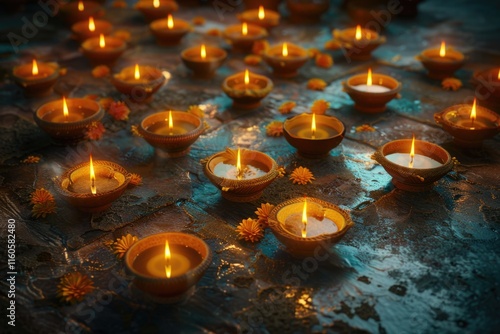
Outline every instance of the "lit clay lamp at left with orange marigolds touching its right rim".
<svg viewBox="0 0 500 334">
<path fill-rule="evenodd" d="M 34 114 L 35 122 L 54 140 L 74 142 L 85 137 L 87 127 L 104 116 L 99 103 L 90 99 L 56 100 L 42 105 Z"/>
</svg>

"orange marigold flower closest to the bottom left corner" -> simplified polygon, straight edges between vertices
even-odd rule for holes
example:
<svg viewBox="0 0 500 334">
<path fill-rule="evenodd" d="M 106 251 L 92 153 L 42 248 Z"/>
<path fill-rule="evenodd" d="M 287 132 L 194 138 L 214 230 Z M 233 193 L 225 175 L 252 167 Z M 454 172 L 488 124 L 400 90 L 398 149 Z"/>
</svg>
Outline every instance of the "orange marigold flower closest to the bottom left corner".
<svg viewBox="0 0 500 334">
<path fill-rule="evenodd" d="M 83 300 L 83 297 L 93 290 L 94 282 L 87 275 L 76 271 L 61 277 L 57 295 L 65 302 L 75 302 Z"/>
</svg>

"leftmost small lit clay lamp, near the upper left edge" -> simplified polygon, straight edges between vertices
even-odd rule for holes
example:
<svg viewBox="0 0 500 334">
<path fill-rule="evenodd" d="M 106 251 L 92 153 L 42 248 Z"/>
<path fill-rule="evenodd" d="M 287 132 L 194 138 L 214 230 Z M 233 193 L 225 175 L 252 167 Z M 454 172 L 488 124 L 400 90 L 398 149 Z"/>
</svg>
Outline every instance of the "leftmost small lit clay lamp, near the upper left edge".
<svg viewBox="0 0 500 334">
<path fill-rule="evenodd" d="M 59 78 L 59 66 L 56 63 L 42 63 L 33 59 L 29 64 L 14 67 L 12 74 L 26 96 L 45 96 L 52 92 Z"/>
</svg>

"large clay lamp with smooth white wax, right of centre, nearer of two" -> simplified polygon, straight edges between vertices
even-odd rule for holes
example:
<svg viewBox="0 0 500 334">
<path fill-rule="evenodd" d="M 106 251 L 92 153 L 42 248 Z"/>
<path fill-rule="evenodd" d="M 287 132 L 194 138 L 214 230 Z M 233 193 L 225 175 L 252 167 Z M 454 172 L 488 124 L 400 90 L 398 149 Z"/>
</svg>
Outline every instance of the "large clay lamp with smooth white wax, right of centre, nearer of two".
<svg viewBox="0 0 500 334">
<path fill-rule="evenodd" d="M 392 176 L 401 190 L 431 190 L 434 182 L 453 168 L 450 154 L 442 147 L 423 140 L 399 139 L 381 146 L 372 155 Z"/>
</svg>

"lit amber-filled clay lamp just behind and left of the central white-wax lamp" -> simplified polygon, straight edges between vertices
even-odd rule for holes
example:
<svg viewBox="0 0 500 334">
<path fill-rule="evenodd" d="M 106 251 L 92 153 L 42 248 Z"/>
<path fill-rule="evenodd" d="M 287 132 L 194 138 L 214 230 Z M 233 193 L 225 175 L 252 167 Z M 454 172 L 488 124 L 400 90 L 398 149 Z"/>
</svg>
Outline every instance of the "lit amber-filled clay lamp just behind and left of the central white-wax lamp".
<svg viewBox="0 0 500 334">
<path fill-rule="evenodd" d="M 162 111 L 144 118 L 139 133 L 151 145 L 169 157 L 182 157 L 203 133 L 201 119 L 183 111 Z"/>
</svg>

